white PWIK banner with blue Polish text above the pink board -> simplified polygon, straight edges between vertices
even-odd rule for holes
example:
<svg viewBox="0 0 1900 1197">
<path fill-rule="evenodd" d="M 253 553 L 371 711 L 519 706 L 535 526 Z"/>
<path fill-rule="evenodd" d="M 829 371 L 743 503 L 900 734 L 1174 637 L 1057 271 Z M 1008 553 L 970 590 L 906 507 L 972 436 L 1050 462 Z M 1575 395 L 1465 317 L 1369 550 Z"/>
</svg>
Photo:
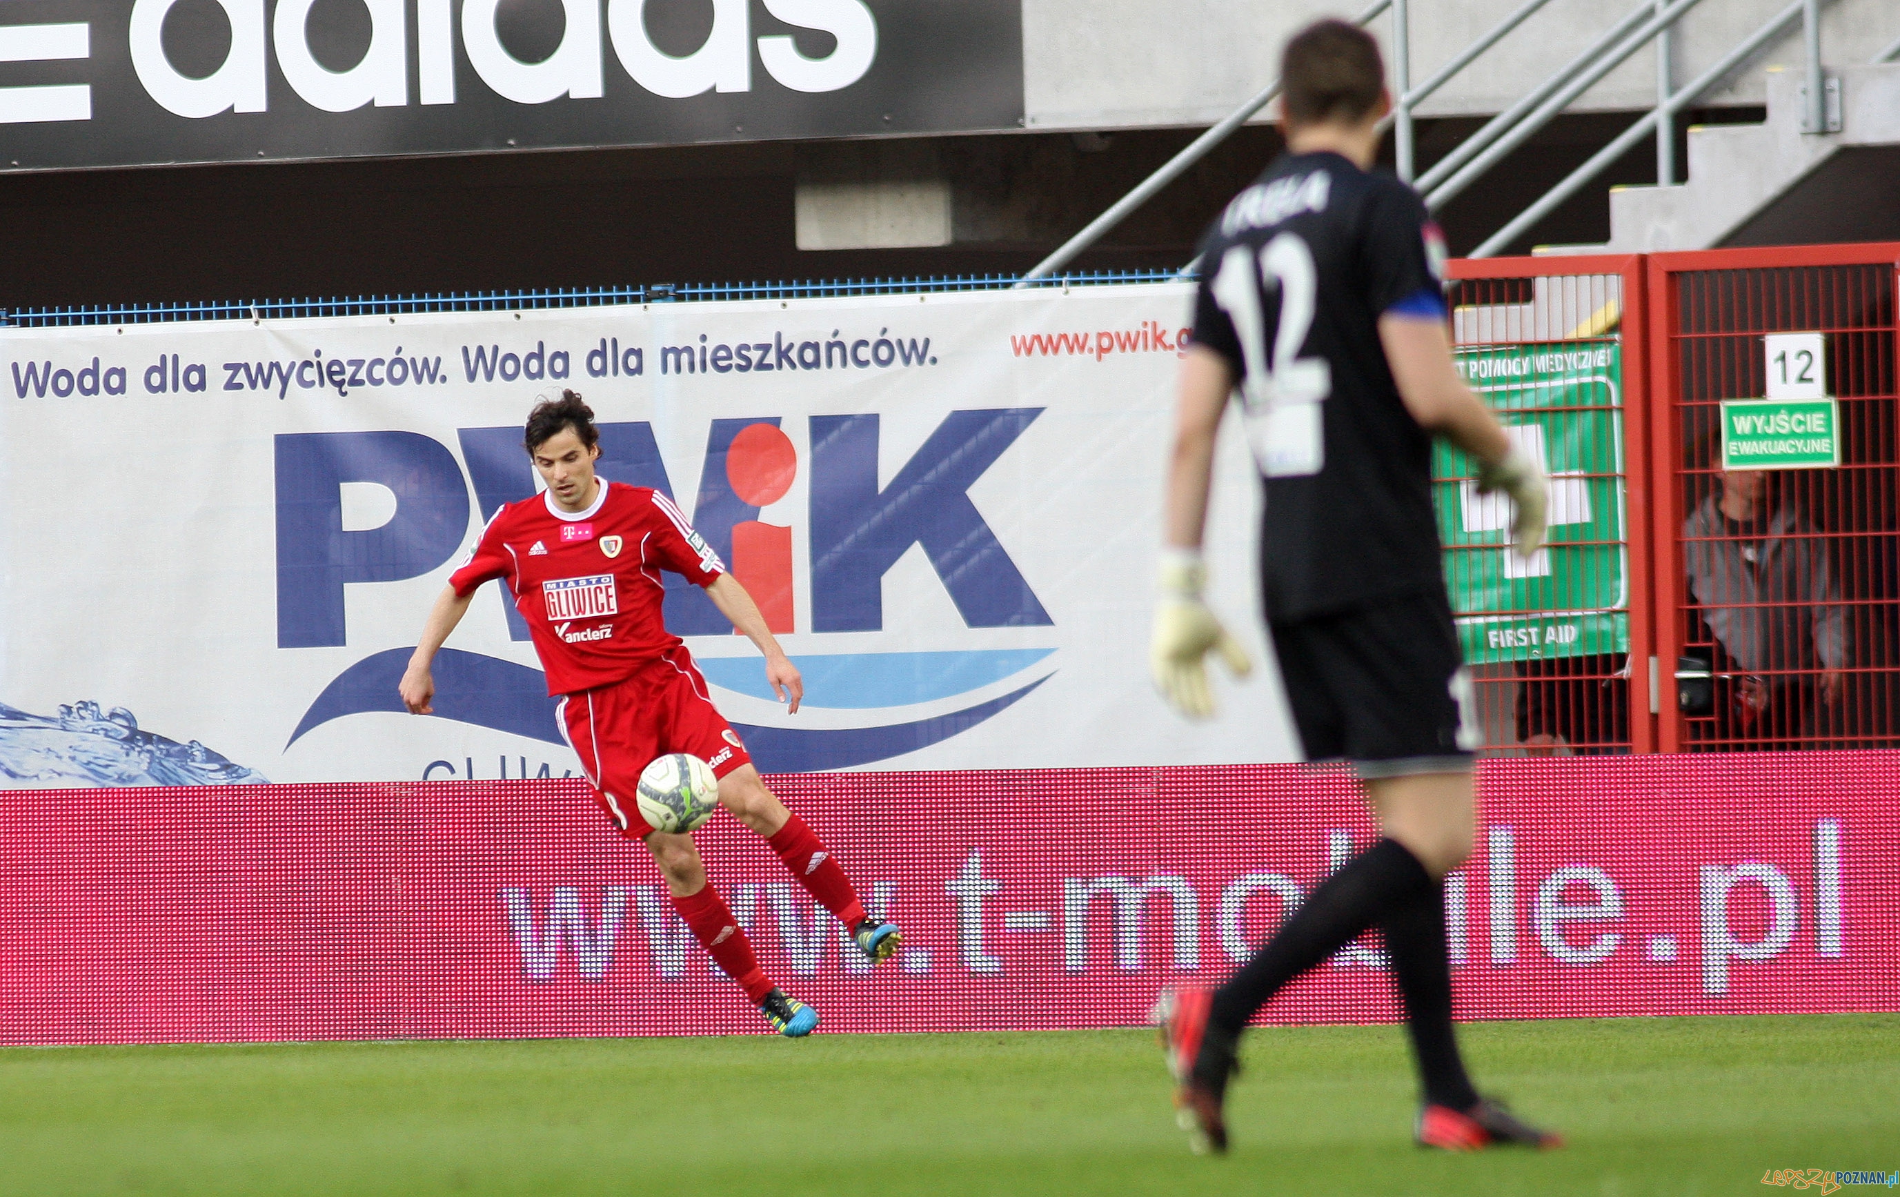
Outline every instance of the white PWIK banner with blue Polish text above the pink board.
<svg viewBox="0 0 1900 1197">
<path fill-rule="evenodd" d="M 766 770 L 1296 756 L 1271 663 L 1193 726 L 1148 682 L 1188 287 L 217 321 L 0 334 L 0 783 L 568 775 L 484 587 L 395 678 L 452 566 L 538 483 L 570 386 L 604 477 L 659 486 L 806 674 L 796 714 L 669 595 Z M 758 428 L 764 426 L 764 428 Z M 1264 661 L 1256 483 L 1222 439 L 1214 604 Z"/>
</svg>

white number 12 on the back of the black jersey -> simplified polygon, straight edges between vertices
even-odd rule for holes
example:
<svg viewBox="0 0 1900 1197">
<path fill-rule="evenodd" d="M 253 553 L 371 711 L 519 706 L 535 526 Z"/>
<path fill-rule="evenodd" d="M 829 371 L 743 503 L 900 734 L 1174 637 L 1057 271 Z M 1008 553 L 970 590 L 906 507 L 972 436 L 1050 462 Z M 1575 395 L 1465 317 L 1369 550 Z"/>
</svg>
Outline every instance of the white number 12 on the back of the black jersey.
<svg viewBox="0 0 1900 1197">
<path fill-rule="evenodd" d="M 1281 294 L 1271 357 L 1262 287 Z M 1246 361 L 1246 376 L 1241 380 L 1246 441 L 1254 446 L 1260 471 L 1269 479 L 1319 473 L 1326 464 L 1319 405 L 1332 393 L 1332 367 L 1324 357 L 1300 357 L 1313 329 L 1317 291 L 1313 251 L 1290 232 L 1265 243 L 1258 274 L 1252 249 L 1235 245 L 1222 255 L 1214 276 L 1214 302 L 1233 321 L 1241 357 Z"/>
</svg>

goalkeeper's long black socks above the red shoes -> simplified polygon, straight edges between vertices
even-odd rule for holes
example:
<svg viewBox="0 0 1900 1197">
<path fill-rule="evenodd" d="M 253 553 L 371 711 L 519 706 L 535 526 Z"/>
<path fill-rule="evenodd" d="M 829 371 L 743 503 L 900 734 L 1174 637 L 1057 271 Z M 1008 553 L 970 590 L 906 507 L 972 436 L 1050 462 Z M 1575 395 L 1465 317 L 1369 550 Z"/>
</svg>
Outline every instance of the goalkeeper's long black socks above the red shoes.
<svg viewBox="0 0 1900 1197">
<path fill-rule="evenodd" d="M 1478 1100 L 1452 1032 L 1452 963 L 1444 942 L 1444 884 L 1396 840 L 1379 840 L 1340 866 L 1241 969 L 1214 990 L 1208 1034 L 1239 1036 L 1288 980 L 1322 963 L 1372 925 L 1385 933 L 1393 980 L 1406 1005 L 1425 1100 L 1467 1110 Z"/>
</svg>

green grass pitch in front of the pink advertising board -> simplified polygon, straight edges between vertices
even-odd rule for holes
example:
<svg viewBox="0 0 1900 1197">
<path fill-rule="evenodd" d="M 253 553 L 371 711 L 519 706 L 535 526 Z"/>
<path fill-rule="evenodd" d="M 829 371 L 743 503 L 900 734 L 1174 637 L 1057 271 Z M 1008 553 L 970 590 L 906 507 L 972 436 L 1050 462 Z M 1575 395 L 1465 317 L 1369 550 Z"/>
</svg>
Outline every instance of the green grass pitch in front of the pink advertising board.
<svg viewBox="0 0 1900 1197">
<path fill-rule="evenodd" d="M 1402 1032 L 1248 1036 L 1197 1159 L 1146 1032 L 0 1051 L 0 1193 L 1780 1193 L 1900 1168 L 1900 1015 L 1465 1028 L 1571 1146 L 1410 1146 Z M 1845 1189 L 1872 1193 L 1875 1189 Z"/>
</svg>

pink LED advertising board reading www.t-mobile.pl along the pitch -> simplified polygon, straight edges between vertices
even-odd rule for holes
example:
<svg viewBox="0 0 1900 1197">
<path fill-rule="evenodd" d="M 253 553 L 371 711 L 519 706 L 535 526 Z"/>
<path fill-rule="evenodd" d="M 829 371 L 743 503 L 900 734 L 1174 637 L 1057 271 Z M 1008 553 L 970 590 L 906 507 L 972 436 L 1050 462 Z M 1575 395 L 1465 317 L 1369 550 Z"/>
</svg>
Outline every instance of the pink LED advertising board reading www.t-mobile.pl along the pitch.
<svg viewBox="0 0 1900 1197">
<path fill-rule="evenodd" d="M 1461 1018 L 1900 1009 L 1900 752 L 1490 760 Z M 1374 834 L 1338 770 L 771 779 L 906 931 L 876 973 L 718 815 L 826 1030 L 1130 1026 Z M 1398 1016 L 1376 940 L 1275 1022 Z M 578 781 L 0 792 L 0 1041 L 758 1032 Z"/>
</svg>

